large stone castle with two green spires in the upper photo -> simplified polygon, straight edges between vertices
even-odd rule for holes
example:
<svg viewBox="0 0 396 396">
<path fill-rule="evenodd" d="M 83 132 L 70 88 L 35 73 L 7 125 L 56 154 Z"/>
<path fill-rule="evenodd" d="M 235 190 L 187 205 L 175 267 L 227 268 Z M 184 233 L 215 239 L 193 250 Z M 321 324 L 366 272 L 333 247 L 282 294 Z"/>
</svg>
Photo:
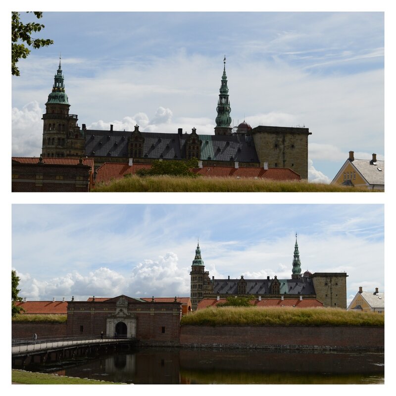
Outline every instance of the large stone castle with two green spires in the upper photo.
<svg viewBox="0 0 396 396">
<path fill-rule="evenodd" d="M 61 63 L 43 114 L 43 157 L 93 157 L 95 166 L 105 162 L 150 163 L 155 159 L 197 158 L 204 165 L 290 168 L 308 178 L 308 128 L 257 126 L 246 121 L 232 128 L 228 80 L 225 68 L 217 102 L 214 135 L 200 135 L 182 128 L 177 133 L 88 130 L 77 125 L 78 116 L 69 114 Z"/>
</svg>

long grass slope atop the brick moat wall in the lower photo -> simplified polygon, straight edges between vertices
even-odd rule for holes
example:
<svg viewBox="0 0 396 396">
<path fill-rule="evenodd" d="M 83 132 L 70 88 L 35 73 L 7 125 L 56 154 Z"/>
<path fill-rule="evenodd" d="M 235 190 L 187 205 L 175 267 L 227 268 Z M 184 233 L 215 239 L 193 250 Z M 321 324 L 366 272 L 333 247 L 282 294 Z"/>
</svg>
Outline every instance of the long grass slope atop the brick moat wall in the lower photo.
<svg viewBox="0 0 396 396">
<path fill-rule="evenodd" d="M 192 326 L 384 326 L 384 315 L 337 308 L 209 307 L 183 316 Z"/>
</svg>

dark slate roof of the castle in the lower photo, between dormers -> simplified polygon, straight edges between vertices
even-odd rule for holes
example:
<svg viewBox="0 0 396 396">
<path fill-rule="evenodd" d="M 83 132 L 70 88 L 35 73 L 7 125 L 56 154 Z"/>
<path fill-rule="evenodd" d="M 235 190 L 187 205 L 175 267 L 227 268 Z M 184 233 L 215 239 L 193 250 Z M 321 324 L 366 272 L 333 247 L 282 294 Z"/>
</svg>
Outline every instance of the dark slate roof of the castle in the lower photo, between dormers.
<svg viewBox="0 0 396 396">
<path fill-rule="evenodd" d="M 238 281 L 240 279 L 214 279 L 214 294 L 238 294 Z M 271 294 L 270 287 L 273 279 L 245 279 L 247 294 Z M 315 294 L 310 278 L 278 279 L 280 294 Z"/>
</svg>

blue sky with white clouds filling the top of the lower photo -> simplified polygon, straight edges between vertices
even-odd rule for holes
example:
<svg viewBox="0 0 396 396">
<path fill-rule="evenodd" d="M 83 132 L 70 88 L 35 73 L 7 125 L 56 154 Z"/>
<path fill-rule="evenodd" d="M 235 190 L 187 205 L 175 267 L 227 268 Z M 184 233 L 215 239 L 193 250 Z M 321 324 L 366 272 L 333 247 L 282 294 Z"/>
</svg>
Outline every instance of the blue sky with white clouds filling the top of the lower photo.
<svg viewBox="0 0 396 396">
<path fill-rule="evenodd" d="M 210 276 L 288 279 L 296 232 L 302 271 L 347 272 L 348 302 L 385 291 L 381 204 L 14 204 L 12 268 L 28 300 L 184 297 L 198 238 Z"/>
</svg>

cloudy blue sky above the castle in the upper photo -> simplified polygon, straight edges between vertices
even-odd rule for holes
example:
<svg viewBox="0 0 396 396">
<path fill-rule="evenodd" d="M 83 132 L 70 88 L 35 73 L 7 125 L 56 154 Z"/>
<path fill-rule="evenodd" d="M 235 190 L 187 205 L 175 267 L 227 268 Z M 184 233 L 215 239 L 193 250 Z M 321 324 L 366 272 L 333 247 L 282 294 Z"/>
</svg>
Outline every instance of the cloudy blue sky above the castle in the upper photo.
<svg viewBox="0 0 396 396">
<path fill-rule="evenodd" d="M 225 54 L 233 124 L 308 127 L 309 180 L 330 182 L 349 150 L 384 159 L 382 12 L 44 12 L 42 23 L 54 44 L 12 77 L 14 156 L 40 155 L 60 53 L 80 126 L 201 134 L 214 133 Z"/>
</svg>

